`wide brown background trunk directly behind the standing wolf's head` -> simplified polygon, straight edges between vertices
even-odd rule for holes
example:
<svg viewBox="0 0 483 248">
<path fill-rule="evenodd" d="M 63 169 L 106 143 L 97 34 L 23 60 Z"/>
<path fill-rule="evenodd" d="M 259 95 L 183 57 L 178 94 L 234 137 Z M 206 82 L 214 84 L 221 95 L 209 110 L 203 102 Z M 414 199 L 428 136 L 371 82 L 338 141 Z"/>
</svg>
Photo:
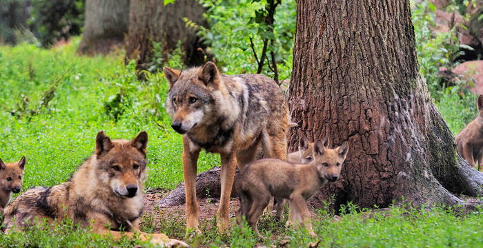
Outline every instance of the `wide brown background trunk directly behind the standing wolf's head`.
<svg viewBox="0 0 483 248">
<path fill-rule="evenodd" d="M 186 17 L 206 26 L 203 13 L 203 6 L 192 0 L 176 0 L 166 6 L 162 0 L 131 1 L 127 59 L 136 59 L 137 68 L 146 70 L 153 59 L 153 42 L 161 43 L 162 59 L 166 60 L 166 55 L 175 50 L 178 41 L 181 41 L 184 63 L 203 64 L 205 46 L 197 37 L 196 30 L 187 27 L 184 21 Z"/>
</svg>

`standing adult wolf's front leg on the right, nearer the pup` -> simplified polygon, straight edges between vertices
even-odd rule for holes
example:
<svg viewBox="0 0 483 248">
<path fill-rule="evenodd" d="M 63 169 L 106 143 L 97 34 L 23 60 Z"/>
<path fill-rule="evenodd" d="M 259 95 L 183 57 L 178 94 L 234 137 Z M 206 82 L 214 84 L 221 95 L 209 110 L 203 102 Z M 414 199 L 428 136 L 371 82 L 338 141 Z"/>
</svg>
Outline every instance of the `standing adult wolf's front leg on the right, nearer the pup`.
<svg viewBox="0 0 483 248">
<path fill-rule="evenodd" d="M 235 154 L 221 155 L 221 199 L 217 211 L 217 226 L 220 232 L 225 232 L 230 225 L 230 195 L 233 188 L 233 180 L 235 178 L 235 168 L 237 166 L 237 158 Z"/>
</svg>

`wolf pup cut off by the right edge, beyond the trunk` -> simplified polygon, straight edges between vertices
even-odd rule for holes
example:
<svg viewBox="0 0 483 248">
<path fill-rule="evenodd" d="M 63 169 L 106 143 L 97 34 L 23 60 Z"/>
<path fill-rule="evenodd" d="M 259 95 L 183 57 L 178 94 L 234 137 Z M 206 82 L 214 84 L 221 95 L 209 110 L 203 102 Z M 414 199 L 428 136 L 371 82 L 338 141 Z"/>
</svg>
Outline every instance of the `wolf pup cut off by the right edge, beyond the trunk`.
<svg viewBox="0 0 483 248">
<path fill-rule="evenodd" d="M 478 116 L 456 136 L 458 153 L 468 161 L 471 167 L 478 163 L 478 170 L 483 169 L 483 95 L 476 102 Z"/>
</svg>

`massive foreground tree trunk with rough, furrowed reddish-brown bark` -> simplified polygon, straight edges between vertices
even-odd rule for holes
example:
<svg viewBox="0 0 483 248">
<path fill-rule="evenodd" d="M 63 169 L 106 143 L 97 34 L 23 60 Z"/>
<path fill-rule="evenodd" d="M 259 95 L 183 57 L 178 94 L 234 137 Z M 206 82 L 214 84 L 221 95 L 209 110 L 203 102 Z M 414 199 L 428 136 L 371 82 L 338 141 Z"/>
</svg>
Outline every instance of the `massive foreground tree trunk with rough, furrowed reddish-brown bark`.
<svg viewBox="0 0 483 248">
<path fill-rule="evenodd" d="M 308 137 L 349 143 L 342 178 L 313 205 L 465 203 L 483 174 L 457 155 L 418 72 L 409 0 L 298 0 L 292 120 Z M 296 149 L 298 132 L 289 136 Z"/>
</svg>

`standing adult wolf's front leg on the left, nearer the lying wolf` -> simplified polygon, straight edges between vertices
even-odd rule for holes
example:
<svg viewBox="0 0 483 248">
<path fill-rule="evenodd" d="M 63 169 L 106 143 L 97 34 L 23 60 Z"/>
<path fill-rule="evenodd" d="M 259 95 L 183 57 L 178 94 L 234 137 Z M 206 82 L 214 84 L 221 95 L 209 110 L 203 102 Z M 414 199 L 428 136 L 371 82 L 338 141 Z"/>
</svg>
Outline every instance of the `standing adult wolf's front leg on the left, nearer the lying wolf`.
<svg viewBox="0 0 483 248">
<path fill-rule="evenodd" d="M 197 161 L 200 149 L 190 145 L 187 136 L 183 137 L 183 176 L 186 194 L 186 230 L 194 229 L 201 234 L 198 228 L 198 203 L 196 200 L 196 174 Z"/>
</svg>

